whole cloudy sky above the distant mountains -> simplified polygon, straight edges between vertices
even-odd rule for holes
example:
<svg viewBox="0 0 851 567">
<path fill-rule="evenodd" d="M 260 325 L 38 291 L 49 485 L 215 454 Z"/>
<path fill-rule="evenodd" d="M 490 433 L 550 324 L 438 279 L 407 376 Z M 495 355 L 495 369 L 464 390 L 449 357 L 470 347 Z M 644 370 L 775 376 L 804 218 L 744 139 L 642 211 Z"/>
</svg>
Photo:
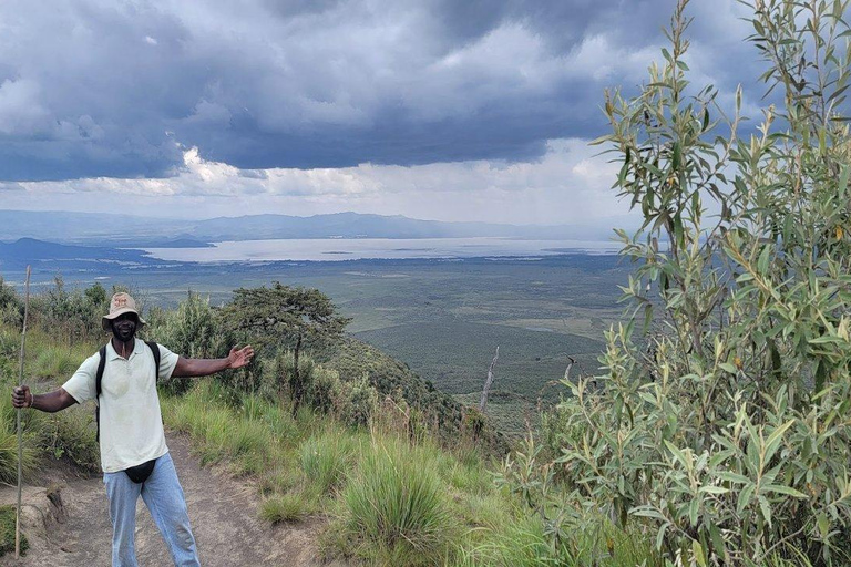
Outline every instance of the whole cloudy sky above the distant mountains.
<svg viewBox="0 0 851 567">
<path fill-rule="evenodd" d="M 588 142 L 674 3 L 3 0 L 0 208 L 616 225 Z M 687 12 L 691 81 L 758 109 L 747 7 Z"/>
</svg>

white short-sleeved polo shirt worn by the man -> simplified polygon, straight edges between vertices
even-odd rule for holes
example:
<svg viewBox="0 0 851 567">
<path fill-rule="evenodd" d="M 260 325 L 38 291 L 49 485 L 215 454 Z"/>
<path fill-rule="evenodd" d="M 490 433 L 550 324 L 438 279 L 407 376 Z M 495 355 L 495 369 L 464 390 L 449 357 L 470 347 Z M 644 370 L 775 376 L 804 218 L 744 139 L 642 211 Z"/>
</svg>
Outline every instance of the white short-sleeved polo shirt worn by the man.
<svg viewBox="0 0 851 567">
<path fill-rule="evenodd" d="M 80 364 L 62 388 L 83 403 L 96 396 L 100 354 Z M 160 380 L 167 380 L 177 365 L 177 354 L 160 346 Z M 124 471 L 168 452 L 163 416 L 154 380 L 154 353 L 136 339 L 133 352 L 124 360 L 106 346 L 106 365 L 101 381 L 101 466 L 105 473 Z"/>
</svg>

